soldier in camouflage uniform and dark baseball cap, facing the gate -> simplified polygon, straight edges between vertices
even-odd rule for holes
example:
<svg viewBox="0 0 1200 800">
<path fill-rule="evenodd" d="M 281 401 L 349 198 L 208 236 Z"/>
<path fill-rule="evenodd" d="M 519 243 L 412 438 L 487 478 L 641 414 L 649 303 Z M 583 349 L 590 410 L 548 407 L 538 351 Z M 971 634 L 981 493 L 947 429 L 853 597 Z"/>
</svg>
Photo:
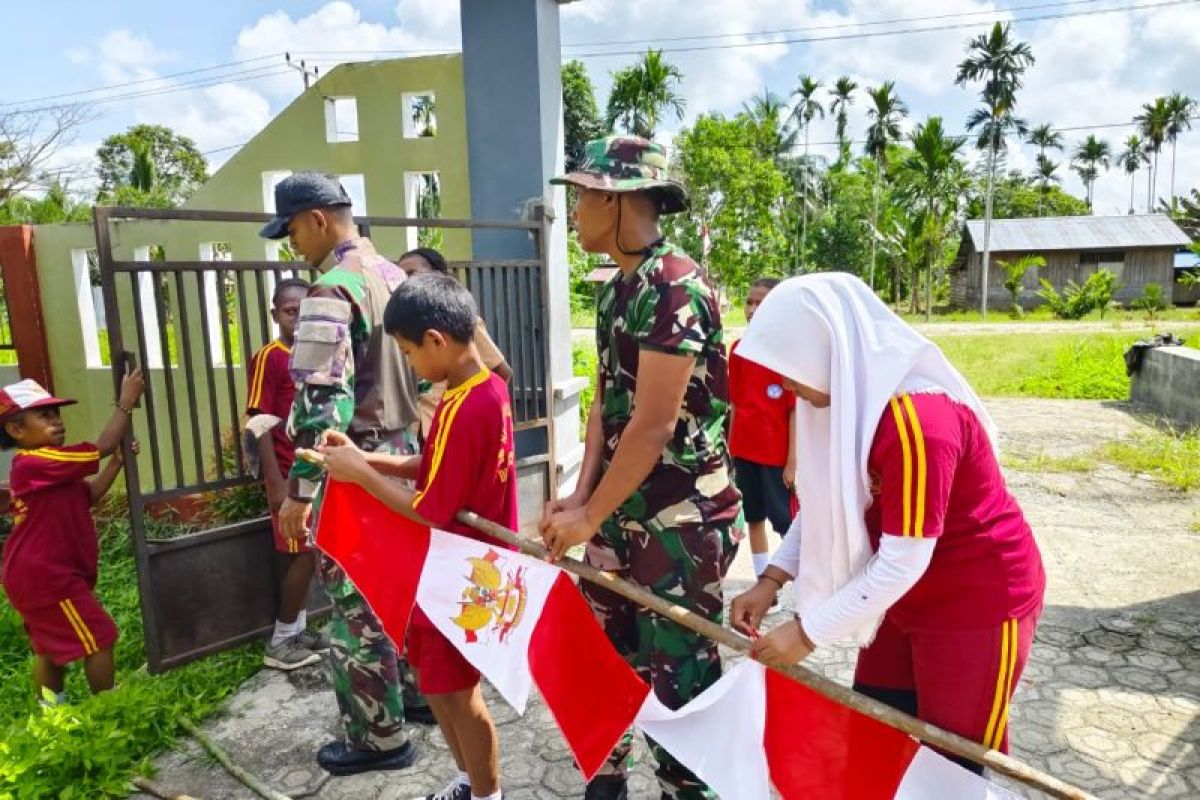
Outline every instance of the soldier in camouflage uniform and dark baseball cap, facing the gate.
<svg viewBox="0 0 1200 800">
<path fill-rule="evenodd" d="M 262 235 L 290 237 L 323 272 L 300 306 L 288 435 L 296 447 L 314 447 L 325 431 L 341 431 L 364 450 L 418 452 L 415 377 L 383 332 L 383 309 L 403 271 L 358 236 L 350 199 L 335 178 L 292 175 L 276 187 L 275 206 Z M 280 510 L 286 536 L 310 535 L 322 476 L 304 459 L 292 467 Z M 319 551 L 317 557 L 318 579 L 334 606 L 328 662 L 346 728 L 346 740 L 322 747 L 317 762 L 334 775 L 409 766 L 416 747 L 404 730 L 396 648 L 342 569 Z"/>
</svg>

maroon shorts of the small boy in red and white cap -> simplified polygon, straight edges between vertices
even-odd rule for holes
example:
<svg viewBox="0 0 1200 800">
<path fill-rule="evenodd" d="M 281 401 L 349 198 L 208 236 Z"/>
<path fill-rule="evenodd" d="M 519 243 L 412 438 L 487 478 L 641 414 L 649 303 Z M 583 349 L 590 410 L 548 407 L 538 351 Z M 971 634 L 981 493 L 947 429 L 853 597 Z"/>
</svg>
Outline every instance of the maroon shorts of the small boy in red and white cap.
<svg viewBox="0 0 1200 800">
<path fill-rule="evenodd" d="M 60 667 L 116 642 L 116 622 L 86 587 L 54 604 L 23 610 L 20 616 L 34 652 Z"/>
</svg>

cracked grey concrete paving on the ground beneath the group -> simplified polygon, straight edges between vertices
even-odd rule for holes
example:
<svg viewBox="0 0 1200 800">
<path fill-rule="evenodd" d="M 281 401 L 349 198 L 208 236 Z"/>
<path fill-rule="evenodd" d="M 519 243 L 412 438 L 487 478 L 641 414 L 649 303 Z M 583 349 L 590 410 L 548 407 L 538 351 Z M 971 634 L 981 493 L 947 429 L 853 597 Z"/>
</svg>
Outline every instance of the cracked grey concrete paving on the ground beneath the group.
<svg viewBox="0 0 1200 800">
<path fill-rule="evenodd" d="M 1038 455 L 1086 453 L 1145 427 L 1115 403 L 992 399 L 988 405 L 1004 450 L 1030 463 Z M 1010 471 L 1009 481 L 1049 576 L 1046 610 L 1012 710 L 1014 756 L 1102 798 L 1200 796 L 1195 495 L 1104 465 L 1090 473 Z M 750 577 L 749 554 L 742 552 L 727 599 Z M 786 619 L 784 606 L 775 619 Z M 850 680 L 852 663 L 853 652 L 845 649 L 811 660 L 840 681 Z M 546 708 L 532 699 L 517 717 L 494 692 L 490 699 L 505 796 L 582 796 L 582 781 Z M 337 734 L 337 720 L 319 670 L 263 672 L 204 728 L 240 764 L 298 799 L 420 798 L 454 772 L 440 736 L 414 726 L 421 756 L 412 769 L 328 778 L 313 754 Z M 630 796 L 658 798 L 646 751 L 638 745 L 635 752 Z M 188 739 L 161 756 L 157 768 L 160 782 L 175 792 L 204 800 L 253 796 Z"/>
</svg>

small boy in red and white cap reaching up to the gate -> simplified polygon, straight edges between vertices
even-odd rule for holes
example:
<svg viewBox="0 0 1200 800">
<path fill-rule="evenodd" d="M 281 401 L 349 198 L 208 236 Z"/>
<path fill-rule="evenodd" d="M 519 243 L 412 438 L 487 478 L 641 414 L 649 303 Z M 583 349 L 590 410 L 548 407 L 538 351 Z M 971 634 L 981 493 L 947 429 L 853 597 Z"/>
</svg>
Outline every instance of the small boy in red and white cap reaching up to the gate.
<svg viewBox="0 0 1200 800">
<path fill-rule="evenodd" d="M 91 506 L 121 469 L 119 457 L 103 469 L 100 459 L 116 452 L 144 387 L 140 369 L 127 373 L 96 443 L 68 446 L 59 408 L 74 401 L 52 397 L 34 380 L 0 390 L 0 447 L 19 449 L 10 473 L 13 528 L 0 581 L 34 648 L 38 696 L 49 690 L 60 703 L 73 661 L 83 660 L 92 693 L 113 687 L 116 625 L 92 594 L 98 543 Z"/>
</svg>

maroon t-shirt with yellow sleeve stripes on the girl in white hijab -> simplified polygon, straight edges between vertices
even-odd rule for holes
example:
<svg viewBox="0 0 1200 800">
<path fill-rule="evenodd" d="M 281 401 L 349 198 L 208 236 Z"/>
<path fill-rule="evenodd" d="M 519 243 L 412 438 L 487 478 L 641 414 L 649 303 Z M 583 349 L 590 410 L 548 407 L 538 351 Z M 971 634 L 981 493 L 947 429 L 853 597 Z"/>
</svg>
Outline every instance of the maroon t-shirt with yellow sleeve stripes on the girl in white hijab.
<svg viewBox="0 0 1200 800">
<path fill-rule="evenodd" d="M 941 393 L 892 398 L 868 470 L 872 548 L 883 533 L 937 539 L 925 575 L 888 612 L 898 625 L 985 627 L 1038 608 L 1042 555 L 974 411 Z"/>
</svg>

